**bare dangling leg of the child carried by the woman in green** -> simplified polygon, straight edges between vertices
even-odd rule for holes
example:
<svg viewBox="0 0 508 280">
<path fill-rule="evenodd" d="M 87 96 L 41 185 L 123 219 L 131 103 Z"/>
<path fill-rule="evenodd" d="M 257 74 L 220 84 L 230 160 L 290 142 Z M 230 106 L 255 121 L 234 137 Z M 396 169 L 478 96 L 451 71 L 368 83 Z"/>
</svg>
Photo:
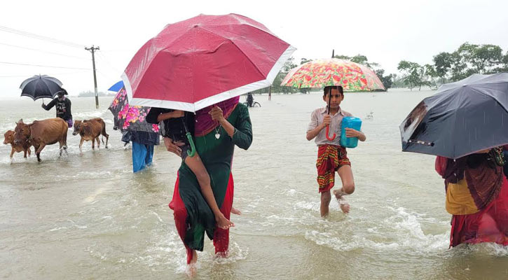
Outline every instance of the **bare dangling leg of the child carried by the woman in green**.
<svg viewBox="0 0 508 280">
<path fill-rule="evenodd" d="M 217 202 L 215 201 L 214 193 L 212 192 L 212 186 L 210 185 L 210 176 L 208 176 L 207 169 L 205 165 L 202 164 L 201 158 L 196 153 L 193 157 L 186 157 L 185 164 L 191 169 L 191 171 L 195 174 L 198 179 L 199 186 L 201 188 L 201 193 L 208 205 L 214 212 L 215 221 L 217 221 L 217 226 L 224 230 L 234 227 L 235 224 L 231 223 L 224 214 L 221 213 L 221 210 L 217 206 Z"/>
</svg>

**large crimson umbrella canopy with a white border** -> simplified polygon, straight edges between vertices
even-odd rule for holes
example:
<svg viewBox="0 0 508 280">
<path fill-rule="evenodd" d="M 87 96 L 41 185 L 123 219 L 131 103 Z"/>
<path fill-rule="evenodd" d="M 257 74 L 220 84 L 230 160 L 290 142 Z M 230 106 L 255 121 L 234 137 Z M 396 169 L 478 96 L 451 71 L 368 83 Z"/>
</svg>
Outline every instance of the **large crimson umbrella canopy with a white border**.
<svg viewBox="0 0 508 280">
<path fill-rule="evenodd" d="M 146 42 L 122 79 L 133 105 L 195 112 L 268 87 L 294 50 L 242 15 L 198 15 Z"/>
</svg>

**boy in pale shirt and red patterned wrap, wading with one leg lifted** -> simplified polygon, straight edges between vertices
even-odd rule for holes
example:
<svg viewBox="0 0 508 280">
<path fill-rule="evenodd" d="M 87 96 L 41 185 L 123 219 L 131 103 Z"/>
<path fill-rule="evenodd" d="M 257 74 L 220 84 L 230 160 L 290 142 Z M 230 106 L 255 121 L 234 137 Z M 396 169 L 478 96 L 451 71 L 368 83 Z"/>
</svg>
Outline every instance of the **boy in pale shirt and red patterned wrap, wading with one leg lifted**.
<svg viewBox="0 0 508 280">
<path fill-rule="evenodd" d="M 349 204 L 345 202 L 344 196 L 355 191 L 351 162 L 345 148 L 340 146 L 342 119 L 352 116 L 341 109 L 341 102 L 344 99 L 343 88 L 338 86 L 324 87 L 323 101 L 328 104 L 323 108 L 316 109 L 310 116 L 310 123 L 307 129 L 307 140 L 315 139 L 318 146 L 317 152 L 317 183 L 321 194 L 321 216 L 327 216 L 331 200 L 330 190 L 334 188 L 335 172 L 341 177 L 342 188 L 334 190 L 334 195 L 344 213 L 349 212 Z M 329 111 L 329 113 L 328 113 Z M 327 139 L 326 127 L 329 125 L 329 134 L 336 134 L 334 140 Z M 345 129 L 346 137 L 358 137 L 359 141 L 365 141 L 363 132 Z"/>
</svg>

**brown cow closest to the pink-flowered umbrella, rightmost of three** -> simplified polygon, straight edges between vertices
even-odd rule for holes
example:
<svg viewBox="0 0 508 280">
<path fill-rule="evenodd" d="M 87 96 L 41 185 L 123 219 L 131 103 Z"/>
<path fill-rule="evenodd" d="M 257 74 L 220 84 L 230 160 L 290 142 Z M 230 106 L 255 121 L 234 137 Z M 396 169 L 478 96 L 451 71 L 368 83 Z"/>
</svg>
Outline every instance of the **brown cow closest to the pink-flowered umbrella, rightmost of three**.
<svg viewBox="0 0 508 280">
<path fill-rule="evenodd" d="M 92 118 L 90 120 L 75 120 L 74 121 L 74 132 L 72 135 L 79 134 L 81 141 L 79 142 L 79 151 L 83 146 L 83 141 L 92 140 L 92 150 L 95 150 L 95 140 L 97 140 L 97 148 L 100 148 L 99 136 L 102 134 L 102 143 L 104 144 L 104 137 L 106 137 L 106 148 L 108 148 L 109 135 L 106 133 L 106 123 L 102 118 Z"/>
</svg>

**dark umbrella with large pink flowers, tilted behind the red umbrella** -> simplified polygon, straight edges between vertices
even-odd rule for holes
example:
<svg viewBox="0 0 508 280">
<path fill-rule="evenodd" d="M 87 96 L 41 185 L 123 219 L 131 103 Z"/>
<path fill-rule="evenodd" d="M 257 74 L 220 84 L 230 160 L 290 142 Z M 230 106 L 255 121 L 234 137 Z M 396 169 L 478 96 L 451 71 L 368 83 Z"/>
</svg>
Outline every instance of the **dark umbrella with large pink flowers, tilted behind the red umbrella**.
<svg viewBox="0 0 508 280">
<path fill-rule="evenodd" d="M 141 132 L 158 132 L 158 125 L 146 123 L 146 115 L 149 113 L 149 107 L 130 106 L 127 92 L 122 88 L 116 94 L 109 106 L 109 111 L 113 113 L 114 130 Z"/>
</svg>

